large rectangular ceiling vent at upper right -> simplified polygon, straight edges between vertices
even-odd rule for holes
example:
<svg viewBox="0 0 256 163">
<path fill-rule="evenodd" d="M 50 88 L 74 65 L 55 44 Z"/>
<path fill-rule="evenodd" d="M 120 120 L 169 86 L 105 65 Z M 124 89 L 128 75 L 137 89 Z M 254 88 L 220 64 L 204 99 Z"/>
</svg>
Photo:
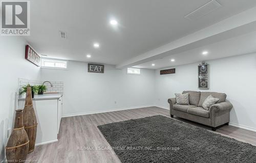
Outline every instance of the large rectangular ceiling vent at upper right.
<svg viewBox="0 0 256 163">
<path fill-rule="evenodd" d="M 196 20 L 220 7 L 221 7 L 220 3 L 218 3 L 216 0 L 212 0 L 207 4 L 203 5 L 202 7 L 198 8 L 197 10 L 187 14 L 185 18 L 189 20 Z"/>
</svg>

